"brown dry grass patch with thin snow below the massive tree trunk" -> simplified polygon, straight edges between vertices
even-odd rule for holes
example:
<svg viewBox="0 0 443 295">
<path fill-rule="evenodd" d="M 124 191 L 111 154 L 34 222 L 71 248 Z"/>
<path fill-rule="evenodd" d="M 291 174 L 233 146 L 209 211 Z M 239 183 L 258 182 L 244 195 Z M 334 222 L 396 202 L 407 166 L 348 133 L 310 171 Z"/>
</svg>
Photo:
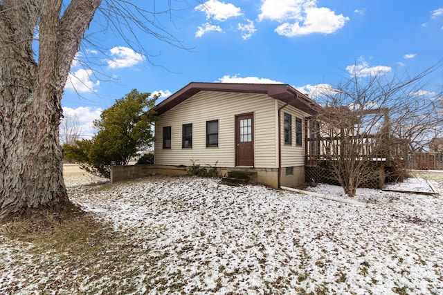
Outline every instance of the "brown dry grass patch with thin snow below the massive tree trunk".
<svg viewBox="0 0 443 295">
<path fill-rule="evenodd" d="M 28 277 L 21 280 L 21 274 L 14 271 L 15 280 L 8 282 L 9 269 L 0 263 L 0 272 L 5 274 L 0 277 L 0 286 L 7 286 L 0 288 L 1 294 L 21 294 L 21 289 L 29 288 L 37 294 L 51 294 L 54 290 L 127 294 L 134 292 L 136 285 L 120 278 L 131 278 L 138 265 L 150 265 L 149 261 L 138 261 L 143 249 L 133 245 L 126 233 L 114 231 L 90 213 L 46 214 L 41 218 L 16 220 L 0 227 L 1 236 L 8 238 L 10 245 L 16 245 L 10 249 L 18 251 L 10 255 L 15 257 L 15 267 L 21 265 L 19 269 L 26 269 Z M 83 289 L 91 281 L 96 283 Z"/>
</svg>

